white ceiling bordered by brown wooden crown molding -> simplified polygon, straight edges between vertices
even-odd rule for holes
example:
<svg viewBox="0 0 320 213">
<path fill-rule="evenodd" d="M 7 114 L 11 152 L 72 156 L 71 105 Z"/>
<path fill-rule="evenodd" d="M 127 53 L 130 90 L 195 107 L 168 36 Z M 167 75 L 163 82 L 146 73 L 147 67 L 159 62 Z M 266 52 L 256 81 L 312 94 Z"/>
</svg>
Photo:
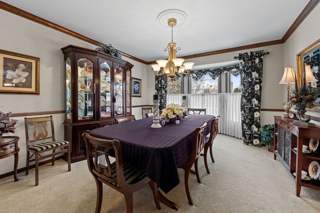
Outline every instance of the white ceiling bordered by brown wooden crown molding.
<svg viewBox="0 0 320 213">
<path fill-rule="evenodd" d="M 309 0 L 2 0 L 145 62 L 166 59 L 167 9 L 187 20 L 173 28 L 177 57 L 281 39 Z"/>
</svg>

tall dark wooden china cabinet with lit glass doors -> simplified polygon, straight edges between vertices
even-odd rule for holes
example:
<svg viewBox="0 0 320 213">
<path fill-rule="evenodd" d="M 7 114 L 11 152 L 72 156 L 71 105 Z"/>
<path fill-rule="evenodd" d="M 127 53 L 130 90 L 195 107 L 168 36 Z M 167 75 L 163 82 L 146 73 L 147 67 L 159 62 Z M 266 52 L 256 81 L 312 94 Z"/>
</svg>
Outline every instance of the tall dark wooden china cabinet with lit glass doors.
<svg viewBox="0 0 320 213">
<path fill-rule="evenodd" d="M 65 62 L 64 138 L 71 143 L 71 162 L 84 160 L 81 132 L 113 125 L 131 114 L 129 62 L 73 45 L 61 48 Z"/>
</svg>

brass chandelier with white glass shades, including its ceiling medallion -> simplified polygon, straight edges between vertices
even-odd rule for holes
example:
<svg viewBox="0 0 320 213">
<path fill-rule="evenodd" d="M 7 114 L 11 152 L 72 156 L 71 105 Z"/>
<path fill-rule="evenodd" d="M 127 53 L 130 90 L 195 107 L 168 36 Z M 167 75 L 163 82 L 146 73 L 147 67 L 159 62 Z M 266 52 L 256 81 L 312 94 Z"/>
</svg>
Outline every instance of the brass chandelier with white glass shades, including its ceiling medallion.
<svg viewBox="0 0 320 213">
<path fill-rule="evenodd" d="M 192 66 L 193 62 L 185 62 L 183 63 L 184 59 L 183 58 L 177 58 L 176 57 L 176 52 L 180 50 L 180 47 L 175 47 L 175 42 L 173 42 L 173 27 L 176 26 L 177 20 L 176 18 L 173 17 L 180 17 L 180 24 L 183 23 L 183 21 L 186 19 L 186 14 L 181 11 L 181 10 L 165 10 L 161 12 L 157 19 L 159 22 L 163 20 L 163 18 L 167 18 L 170 16 L 170 18 L 166 19 L 167 20 L 167 25 L 171 27 L 171 42 L 168 43 L 167 47 L 164 49 L 164 51 L 168 51 L 169 56 L 167 60 L 156 60 L 157 64 L 152 64 L 152 68 L 155 72 L 156 75 L 161 75 L 165 73 L 167 77 L 170 77 L 171 81 L 173 81 L 173 78 L 178 75 L 188 75 Z M 182 18 L 181 18 L 182 17 Z M 163 24 L 163 23 L 161 23 Z M 183 63 L 183 64 L 182 64 Z"/>
</svg>

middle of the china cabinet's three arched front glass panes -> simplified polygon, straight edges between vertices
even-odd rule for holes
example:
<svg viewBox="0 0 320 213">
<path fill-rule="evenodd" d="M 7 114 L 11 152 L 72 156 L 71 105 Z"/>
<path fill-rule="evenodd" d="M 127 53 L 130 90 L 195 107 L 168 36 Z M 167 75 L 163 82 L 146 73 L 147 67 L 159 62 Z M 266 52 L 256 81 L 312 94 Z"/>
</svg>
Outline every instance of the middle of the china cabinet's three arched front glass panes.
<svg viewBox="0 0 320 213">
<path fill-rule="evenodd" d="M 100 118 L 111 116 L 111 67 L 110 62 L 102 61 L 100 66 Z"/>
</svg>

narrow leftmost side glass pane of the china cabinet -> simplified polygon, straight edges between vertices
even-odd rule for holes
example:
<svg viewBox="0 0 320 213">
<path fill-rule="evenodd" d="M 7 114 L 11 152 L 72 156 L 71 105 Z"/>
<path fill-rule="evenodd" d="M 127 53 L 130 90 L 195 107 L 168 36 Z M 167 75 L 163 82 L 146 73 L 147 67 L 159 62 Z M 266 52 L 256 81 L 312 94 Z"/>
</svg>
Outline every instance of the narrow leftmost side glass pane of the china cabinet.
<svg viewBox="0 0 320 213">
<path fill-rule="evenodd" d="M 72 113 L 71 113 L 71 103 L 72 103 L 72 97 L 71 97 L 71 60 L 69 57 L 65 60 L 65 119 L 71 119 Z"/>
</svg>

